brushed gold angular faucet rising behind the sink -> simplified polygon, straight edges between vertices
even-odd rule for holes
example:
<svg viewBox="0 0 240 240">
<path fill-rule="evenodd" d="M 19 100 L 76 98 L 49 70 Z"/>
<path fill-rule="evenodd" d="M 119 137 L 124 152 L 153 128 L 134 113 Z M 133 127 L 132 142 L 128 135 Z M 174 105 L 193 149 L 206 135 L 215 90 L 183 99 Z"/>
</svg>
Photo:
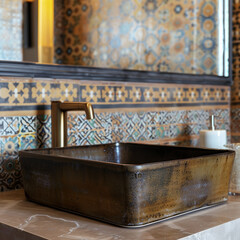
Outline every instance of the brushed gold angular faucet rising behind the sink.
<svg viewBox="0 0 240 240">
<path fill-rule="evenodd" d="M 93 107 L 87 102 L 51 102 L 52 147 L 67 146 L 67 112 L 85 111 L 87 119 L 94 118 Z"/>
</svg>

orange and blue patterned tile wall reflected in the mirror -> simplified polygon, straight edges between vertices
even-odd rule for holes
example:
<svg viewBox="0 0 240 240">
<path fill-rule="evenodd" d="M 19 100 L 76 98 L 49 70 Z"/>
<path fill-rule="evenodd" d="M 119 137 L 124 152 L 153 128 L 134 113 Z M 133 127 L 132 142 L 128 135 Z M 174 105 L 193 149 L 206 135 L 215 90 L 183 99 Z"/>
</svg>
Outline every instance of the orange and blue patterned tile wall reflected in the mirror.
<svg viewBox="0 0 240 240">
<path fill-rule="evenodd" d="M 55 0 L 55 62 L 218 74 L 217 0 Z"/>
</svg>

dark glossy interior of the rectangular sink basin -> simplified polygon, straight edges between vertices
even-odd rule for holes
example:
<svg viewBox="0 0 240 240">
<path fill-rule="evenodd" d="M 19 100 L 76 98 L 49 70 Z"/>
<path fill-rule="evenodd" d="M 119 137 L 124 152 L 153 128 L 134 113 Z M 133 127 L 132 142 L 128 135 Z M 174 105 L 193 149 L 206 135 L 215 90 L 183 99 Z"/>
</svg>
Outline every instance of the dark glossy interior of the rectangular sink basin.
<svg viewBox="0 0 240 240">
<path fill-rule="evenodd" d="M 228 152 L 228 150 L 133 143 L 113 143 L 91 146 L 42 149 L 36 150 L 35 153 L 120 164 L 144 164 L 177 159 L 188 159 L 212 154 L 221 154 L 225 152 Z"/>
</svg>

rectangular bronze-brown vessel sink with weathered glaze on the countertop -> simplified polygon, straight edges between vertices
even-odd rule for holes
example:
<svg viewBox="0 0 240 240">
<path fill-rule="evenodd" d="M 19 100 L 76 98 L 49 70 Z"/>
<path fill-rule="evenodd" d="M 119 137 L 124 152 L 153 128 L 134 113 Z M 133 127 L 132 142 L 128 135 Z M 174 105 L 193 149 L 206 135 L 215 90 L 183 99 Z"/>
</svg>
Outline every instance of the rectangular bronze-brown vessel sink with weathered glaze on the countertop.
<svg viewBox="0 0 240 240">
<path fill-rule="evenodd" d="M 114 143 L 20 152 L 26 197 L 124 227 L 227 201 L 234 151 Z"/>
</svg>

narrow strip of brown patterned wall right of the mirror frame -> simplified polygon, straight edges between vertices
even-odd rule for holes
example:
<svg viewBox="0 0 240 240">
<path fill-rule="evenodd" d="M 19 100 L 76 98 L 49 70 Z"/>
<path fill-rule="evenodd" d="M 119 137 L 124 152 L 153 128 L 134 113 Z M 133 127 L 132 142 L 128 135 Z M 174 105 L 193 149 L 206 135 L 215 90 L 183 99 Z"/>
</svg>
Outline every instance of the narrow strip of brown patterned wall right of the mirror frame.
<svg viewBox="0 0 240 240">
<path fill-rule="evenodd" d="M 233 1 L 233 86 L 231 89 L 231 140 L 240 142 L 240 2 Z"/>
</svg>

